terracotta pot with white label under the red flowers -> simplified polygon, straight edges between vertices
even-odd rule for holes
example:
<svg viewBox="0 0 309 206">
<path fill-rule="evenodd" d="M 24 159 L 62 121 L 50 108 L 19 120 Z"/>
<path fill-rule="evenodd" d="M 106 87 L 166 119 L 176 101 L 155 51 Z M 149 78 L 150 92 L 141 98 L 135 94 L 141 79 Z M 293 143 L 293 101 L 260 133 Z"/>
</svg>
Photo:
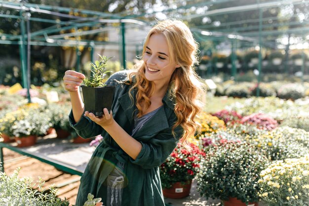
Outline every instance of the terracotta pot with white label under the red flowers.
<svg viewBox="0 0 309 206">
<path fill-rule="evenodd" d="M 171 199 L 185 198 L 190 195 L 192 180 L 188 180 L 185 184 L 176 182 L 169 189 L 163 189 L 163 196 Z"/>
</svg>

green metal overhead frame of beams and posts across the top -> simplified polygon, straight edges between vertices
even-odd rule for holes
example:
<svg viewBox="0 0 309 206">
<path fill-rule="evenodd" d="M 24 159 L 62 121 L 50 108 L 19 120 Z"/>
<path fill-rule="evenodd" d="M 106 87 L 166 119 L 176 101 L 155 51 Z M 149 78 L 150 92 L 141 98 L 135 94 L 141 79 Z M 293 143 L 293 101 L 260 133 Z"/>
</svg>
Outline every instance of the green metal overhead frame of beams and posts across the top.
<svg viewBox="0 0 309 206">
<path fill-rule="evenodd" d="M 198 0 L 197 0 L 198 1 Z M 251 45 L 258 45 L 259 49 L 259 77 L 258 82 L 260 82 L 261 74 L 262 74 L 262 55 L 261 51 L 263 47 L 274 48 L 275 42 L 274 40 L 282 35 L 296 35 L 300 36 L 303 39 L 309 34 L 309 17 L 305 18 L 304 21 L 292 21 L 292 22 L 280 22 L 281 18 L 271 17 L 266 18 L 263 17 L 263 11 L 268 8 L 278 8 L 282 6 L 288 5 L 301 5 L 305 7 L 309 7 L 309 0 L 256 0 L 253 4 L 237 5 L 232 7 L 225 7 L 219 9 L 205 9 L 204 12 L 193 14 L 190 9 L 193 8 L 211 8 L 212 5 L 220 5 L 222 3 L 228 2 L 237 2 L 236 0 L 216 0 L 216 1 L 198 1 L 188 0 L 186 4 L 178 5 L 177 8 L 165 7 L 163 9 L 151 11 L 141 10 L 138 14 L 132 15 L 129 11 L 124 11 L 117 14 L 104 13 L 98 11 L 89 11 L 84 9 L 76 9 L 76 8 L 66 8 L 66 7 L 57 7 L 57 6 L 48 6 L 48 5 L 40 5 L 40 4 L 31 4 L 31 3 L 14 3 L 10 1 L 2 1 L 0 2 L 0 7 L 5 7 L 8 9 L 19 10 L 20 15 L 7 15 L 0 14 L 0 17 L 4 18 L 15 18 L 21 20 L 21 34 L 18 36 L 13 36 L 9 34 L 1 34 L 0 43 L 6 44 L 18 44 L 20 45 L 20 59 L 21 59 L 21 67 L 23 71 L 23 85 L 24 87 L 29 87 L 29 81 L 27 80 L 27 76 L 29 77 L 29 55 L 30 55 L 30 45 L 50 45 L 50 46 L 77 46 L 83 45 L 86 47 L 90 47 L 93 51 L 93 47 L 95 45 L 102 44 L 119 44 L 121 42 L 121 56 L 122 56 L 122 67 L 125 68 L 125 46 L 128 43 L 134 42 L 125 42 L 125 30 L 130 27 L 132 24 L 137 24 L 141 26 L 149 25 L 151 22 L 145 22 L 141 17 L 149 17 L 154 18 L 158 13 L 166 13 L 170 17 L 175 17 L 178 19 L 183 19 L 184 21 L 189 22 L 193 21 L 196 18 L 201 17 L 214 17 L 218 15 L 230 15 L 235 14 L 237 12 L 258 12 L 258 19 L 242 19 L 238 21 L 227 21 L 223 22 L 219 26 L 213 26 L 207 24 L 205 26 L 191 27 L 191 30 L 194 34 L 194 37 L 197 41 L 230 41 L 232 45 L 231 49 L 231 62 L 232 62 L 232 71 L 231 76 L 236 75 L 236 49 L 239 45 L 238 42 L 249 42 Z M 238 1 L 241 2 L 241 1 Z M 184 13 L 182 16 L 177 14 L 178 11 L 184 11 L 180 13 Z M 58 21 L 53 19 L 42 19 L 42 18 L 33 18 L 31 17 L 32 12 L 40 12 L 44 14 L 49 14 L 53 16 L 65 17 L 68 18 L 68 21 Z M 76 16 L 73 15 L 75 12 L 78 12 L 84 16 Z M 188 14 L 185 14 L 188 13 Z M 294 14 L 291 18 L 298 17 L 298 14 Z M 29 33 L 29 27 L 32 21 L 41 21 L 48 22 L 54 24 L 53 26 L 36 31 L 33 33 Z M 271 24 L 266 24 L 265 22 L 271 21 Z M 27 23 L 27 24 L 26 24 Z M 104 31 L 109 31 L 115 29 L 113 26 L 104 26 L 99 29 L 94 29 L 91 31 L 83 31 L 83 32 L 74 32 L 71 34 L 60 34 L 61 30 L 68 29 L 76 29 L 81 28 L 83 26 L 93 26 L 97 24 L 106 24 L 106 23 L 119 23 L 119 41 L 118 42 L 98 42 L 98 41 L 88 41 L 88 40 L 80 40 L 80 41 L 72 41 L 66 40 L 64 37 L 76 37 L 86 34 L 95 34 L 101 33 Z M 251 26 L 244 27 L 245 24 L 253 24 Z M 27 25 L 27 26 L 26 26 Z M 269 31 L 270 27 L 285 27 L 285 29 Z M 292 26 L 293 28 L 290 28 Z M 230 27 L 230 28 L 223 28 Z M 58 33 L 58 34 L 57 34 Z M 28 43 L 29 42 L 29 43 Z M 290 44 L 286 45 L 286 52 L 289 49 Z M 26 48 L 27 47 L 27 48 Z M 138 50 L 138 46 L 136 46 Z M 303 48 L 304 49 L 304 48 Z M 77 51 L 78 53 L 78 51 Z M 304 53 L 304 52 L 303 52 Z M 78 57 L 78 55 L 77 55 Z M 27 60 L 28 59 L 28 60 Z M 79 60 L 77 58 L 77 60 Z M 304 60 L 304 55 L 303 55 Z M 305 62 L 303 61 L 302 72 L 304 74 L 305 70 Z M 28 68 L 28 69 L 26 69 Z M 77 67 L 78 70 L 78 67 Z M 259 95 L 259 90 L 257 95 Z"/>
</svg>

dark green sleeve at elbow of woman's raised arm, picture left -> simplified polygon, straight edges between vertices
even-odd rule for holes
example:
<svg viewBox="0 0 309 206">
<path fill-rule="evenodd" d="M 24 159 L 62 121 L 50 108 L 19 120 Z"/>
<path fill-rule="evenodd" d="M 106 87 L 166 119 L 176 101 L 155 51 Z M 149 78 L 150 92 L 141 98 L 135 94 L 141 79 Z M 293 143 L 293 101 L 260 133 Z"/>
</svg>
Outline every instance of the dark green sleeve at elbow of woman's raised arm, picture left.
<svg viewBox="0 0 309 206">
<path fill-rule="evenodd" d="M 81 115 L 79 121 L 76 123 L 74 120 L 73 112 L 71 110 L 69 115 L 70 125 L 75 129 L 77 134 L 82 138 L 90 138 L 102 133 L 103 128 L 99 124 L 91 121 L 88 117 Z"/>
</svg>

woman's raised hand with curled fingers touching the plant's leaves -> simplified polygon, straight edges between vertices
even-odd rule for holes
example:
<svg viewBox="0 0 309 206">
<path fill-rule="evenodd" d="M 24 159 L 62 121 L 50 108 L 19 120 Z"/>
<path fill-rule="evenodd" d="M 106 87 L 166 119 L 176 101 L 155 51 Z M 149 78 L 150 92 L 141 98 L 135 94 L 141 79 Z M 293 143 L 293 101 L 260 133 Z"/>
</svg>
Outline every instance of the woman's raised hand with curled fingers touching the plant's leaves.
<svg viewBox="0 0 309 206">
<path fill-rule="evenodd" d="M 69 92 L 76 92 L 78 86 L 85 79 L 85 76 L 79 72 L 68 70 L 63 77 L 64 88 Z"/>
</svg>

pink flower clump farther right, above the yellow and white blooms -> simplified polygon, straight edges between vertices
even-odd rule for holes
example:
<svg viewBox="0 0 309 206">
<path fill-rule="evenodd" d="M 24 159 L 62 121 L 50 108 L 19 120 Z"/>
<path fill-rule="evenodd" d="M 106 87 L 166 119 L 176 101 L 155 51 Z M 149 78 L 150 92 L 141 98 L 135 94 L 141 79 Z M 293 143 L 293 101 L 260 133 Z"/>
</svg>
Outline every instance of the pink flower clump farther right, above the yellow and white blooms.
<svg viewBox="0 0 309 206">
<path fill-rule="evenodd" d="M 272 130 L 278 126 L 277 121 L 262 113 L 254 113 L 241 119 L 241 124 L 254 124 L 258 128 Z"/>
</svg>

